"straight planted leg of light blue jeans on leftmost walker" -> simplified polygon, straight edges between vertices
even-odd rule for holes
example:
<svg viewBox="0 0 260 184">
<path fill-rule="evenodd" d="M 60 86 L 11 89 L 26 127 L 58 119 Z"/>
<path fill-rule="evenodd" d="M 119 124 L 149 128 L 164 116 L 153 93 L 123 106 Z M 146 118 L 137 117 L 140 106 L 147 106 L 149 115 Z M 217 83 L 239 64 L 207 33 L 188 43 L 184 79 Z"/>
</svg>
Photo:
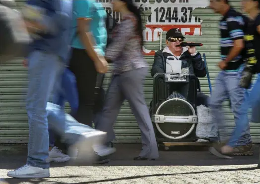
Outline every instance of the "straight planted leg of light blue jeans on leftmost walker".
<svg viewBox="0 0 260 184">
<path fill-rule="evenodd" d="M 28 59 L 28 92 L 26 110 L 29 123 L 27 164 L 49 168 L 49 136 L 47 121 L 47 101 L 53 90 L 57 76 L 64 68 L 60 57 L 35 50 Z"/>
</svg>

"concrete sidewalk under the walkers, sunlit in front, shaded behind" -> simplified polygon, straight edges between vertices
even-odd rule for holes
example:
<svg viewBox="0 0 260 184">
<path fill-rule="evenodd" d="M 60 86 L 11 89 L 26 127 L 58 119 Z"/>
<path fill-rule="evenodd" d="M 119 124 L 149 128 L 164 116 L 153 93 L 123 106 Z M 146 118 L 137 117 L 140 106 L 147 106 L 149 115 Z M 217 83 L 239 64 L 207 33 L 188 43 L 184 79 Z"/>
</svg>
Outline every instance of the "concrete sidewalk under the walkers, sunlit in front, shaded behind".
<svg viewBox="0 0 260 184">
<path fill-rule="evenodd" d="M 10 184 L 241 184 L 260 183 L 257 169 L 259 145 L 253 156 L 218 159 L 208 151 L 190 147 L 160 151 L 155 161 L 133 161 L 141 145 L 116 144 L 117 152 L 106 165 L 71 166 L 51 163 L 51 177 L 46 179 L 12 179 L 9 170 L 26 161 L 26 145 L 1 146 L 1 178 Z M 187 151 L 189 150 L 189 151 Z"/>
</svg>

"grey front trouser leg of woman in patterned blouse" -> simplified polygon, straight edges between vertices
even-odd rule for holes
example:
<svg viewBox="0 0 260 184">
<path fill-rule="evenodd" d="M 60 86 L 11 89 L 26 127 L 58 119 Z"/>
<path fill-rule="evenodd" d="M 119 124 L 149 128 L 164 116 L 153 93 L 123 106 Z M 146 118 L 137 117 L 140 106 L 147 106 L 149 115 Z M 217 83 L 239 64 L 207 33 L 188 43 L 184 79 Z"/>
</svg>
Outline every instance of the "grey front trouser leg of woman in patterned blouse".
<svg viewBox="0 0 260 184">
<path fill-rule="evenodd" d="M 139 158 L 156 159 L 159 157 L 158 146 L 143 89 L 146 74 L 147 68 L 124 72 L 120 75 L 120 84 L 141 130 L 142 151 Z"/>
</svg>

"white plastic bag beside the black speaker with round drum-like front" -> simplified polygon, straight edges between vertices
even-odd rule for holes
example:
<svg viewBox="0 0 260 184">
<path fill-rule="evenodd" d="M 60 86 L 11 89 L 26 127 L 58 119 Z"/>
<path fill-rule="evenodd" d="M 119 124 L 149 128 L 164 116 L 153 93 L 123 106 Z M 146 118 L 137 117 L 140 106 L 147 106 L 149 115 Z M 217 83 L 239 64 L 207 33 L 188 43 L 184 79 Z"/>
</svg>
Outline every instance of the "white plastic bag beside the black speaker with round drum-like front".
<svg viewBox="0 0 260 184">
<path fill-rule="evenodd" d="M 217 127 L 212 122 L 211 109 L 203 105 L 197 106 L 197 116 L 196 136 L 207 139 L 217 137 Z"/>
</svg>

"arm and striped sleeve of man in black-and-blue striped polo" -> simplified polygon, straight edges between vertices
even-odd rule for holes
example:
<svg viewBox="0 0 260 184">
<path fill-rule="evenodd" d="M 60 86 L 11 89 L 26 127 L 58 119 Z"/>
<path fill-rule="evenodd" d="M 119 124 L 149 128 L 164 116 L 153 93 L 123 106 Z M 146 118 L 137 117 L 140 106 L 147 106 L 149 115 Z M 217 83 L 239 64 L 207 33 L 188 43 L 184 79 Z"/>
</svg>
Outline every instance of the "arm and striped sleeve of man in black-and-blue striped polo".
<svg viewBox="0 0 260 184">
<path fill-rule="evenodd" d="M 232 61 L 235 57 L 237 57 L 245 47 L 243 32 L 244 25 L 241 25 L 242 21 L 244 21 L 242 17 L 231 17 L 227 19 L 229 35 L 230 38 L 234 41 L 234 46 L 225 59 L 226 63 Z"/>
</svg>

